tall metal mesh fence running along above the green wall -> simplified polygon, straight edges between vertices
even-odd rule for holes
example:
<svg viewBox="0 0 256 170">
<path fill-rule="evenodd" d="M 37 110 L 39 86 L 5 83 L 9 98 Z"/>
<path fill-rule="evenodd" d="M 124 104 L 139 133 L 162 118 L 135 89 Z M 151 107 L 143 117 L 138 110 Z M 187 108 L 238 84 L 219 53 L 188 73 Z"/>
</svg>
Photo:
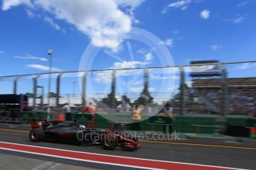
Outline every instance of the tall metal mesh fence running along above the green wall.
<svg viewBox="0 0 256 170">
<path fill-rule="evenodd" d="M 211 64 L 197 64 L 198 66 Z M 1 94 L 27 94 L 33 109 L 70 103 L 80 112 L 88 103 L 128 112 L 134 105 L 158 112 L 171 103 L 177 114 L 245 115 L 255 107 L 256 61 L 220 64 L 220 76 L 191 78 L 191 65 L 51 72 L 0 77 Z M 48 100 L 49 99 L 49 100 Z"/>
</svg>

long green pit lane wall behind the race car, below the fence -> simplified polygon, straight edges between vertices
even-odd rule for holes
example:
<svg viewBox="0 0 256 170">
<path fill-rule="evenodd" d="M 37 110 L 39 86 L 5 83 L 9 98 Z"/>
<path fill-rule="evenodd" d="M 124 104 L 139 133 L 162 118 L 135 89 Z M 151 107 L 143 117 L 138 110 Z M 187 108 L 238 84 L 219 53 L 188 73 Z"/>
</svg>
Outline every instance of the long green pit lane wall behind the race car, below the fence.
<svg viewBox="0 0 256 170">
<path fill-rule="evenodd" d="M 109 114 L 103 115 L 97 113 L 95 117 L 95 128 L 109 129 L 111 121 L 106 117 L 119 116 L 122 119 L 130 119 L 129 115 Z M 164 125 L 171 125 L 171 129 L 166 132 L 183 132 L 196 134 L 226 134 L 232 136 L 249 137 L 250 127 L 256 126 L 255 119 L 249 119 L 243 116 L 228 115 L 226 117 L 216 115 L 176 115 L 175 118 L 163 116 L 149 117 L 142 116 L 143 121 L 140 122 L 140 129 L 144 132 L 163 132 Z M 28 123 L 33 119 L 47 118 L 46 112 L 21 112 L 20 118 L 22 123 Z M 55 118 L 57 118 L 55 116 Z M 91 116 L 87 114 L 72 113 L 72 120 L 79 120 L 80 123 L 87 124 L 91 120 Z M 125 124 L 125 130 L 132 130 L 133 124 Z M 168 126 L 166 126 L 168 127 Z M 115 126 L 117 127 L 117 124 Z"/>
</svg>

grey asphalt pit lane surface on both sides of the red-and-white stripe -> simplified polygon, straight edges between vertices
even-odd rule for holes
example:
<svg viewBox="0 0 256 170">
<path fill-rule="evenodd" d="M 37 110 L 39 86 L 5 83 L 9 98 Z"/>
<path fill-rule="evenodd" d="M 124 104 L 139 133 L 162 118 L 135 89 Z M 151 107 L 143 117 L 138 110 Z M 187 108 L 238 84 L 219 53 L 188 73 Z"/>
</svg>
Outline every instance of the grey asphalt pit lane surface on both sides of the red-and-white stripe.
<svg viewBox="0 0 256 170">
<path fill-rule="evenodd" d="M 0 129 L 0 141 L 7 143 L 20 143 L 29 146 L 42 146 L 53 149 L 65 149 L 78 152 L 91 152 L 96 154 L 108 154 L 122 157 L 137 157 L 150 160 L 174 161 L 180 163 L 193 163 L 208 166 L 232 167 L 236 169 L 256 169 L 256 149 L 203 146 L 177 143 L 140 142 L 141 148 L 134 152 L 116 148 L 113 151 L 104 150 L 102 146 L 75 146 L 67 143 L 33 143 L 28 138 L 28 132 Z M 2 154 L 12 154 L 21 157 L 31 157 L 38 160 L 54 161 L 76 166 L 84 166 L 93 169 L 134 169 L 105 165 L 102 163 L 90 163 L 76 160 L 67 160 L 58 157 L 47 157 L 36 154 L 13 152 L 0 149 Z M 12 160 L 12 162 L 15 160 Z"/>
</svg>

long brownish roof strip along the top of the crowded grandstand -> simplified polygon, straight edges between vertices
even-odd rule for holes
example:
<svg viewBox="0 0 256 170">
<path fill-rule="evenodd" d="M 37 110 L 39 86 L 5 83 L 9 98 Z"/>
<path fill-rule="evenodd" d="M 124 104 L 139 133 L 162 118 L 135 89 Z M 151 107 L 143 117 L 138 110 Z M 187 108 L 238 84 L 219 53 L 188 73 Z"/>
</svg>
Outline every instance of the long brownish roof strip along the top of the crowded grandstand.
<svg viewBox="0 0 256 170">
<path fill-rule="evenodd" d="M 256 87 L 256 78 L 227 78 L 227 86 L 229 87 L 245 87 L 253 86 Z M 220 78 L 209 78 L 209 79 L 197 79 L 193 83 L 194 87 L 220 87 Z"/>
</svg>

